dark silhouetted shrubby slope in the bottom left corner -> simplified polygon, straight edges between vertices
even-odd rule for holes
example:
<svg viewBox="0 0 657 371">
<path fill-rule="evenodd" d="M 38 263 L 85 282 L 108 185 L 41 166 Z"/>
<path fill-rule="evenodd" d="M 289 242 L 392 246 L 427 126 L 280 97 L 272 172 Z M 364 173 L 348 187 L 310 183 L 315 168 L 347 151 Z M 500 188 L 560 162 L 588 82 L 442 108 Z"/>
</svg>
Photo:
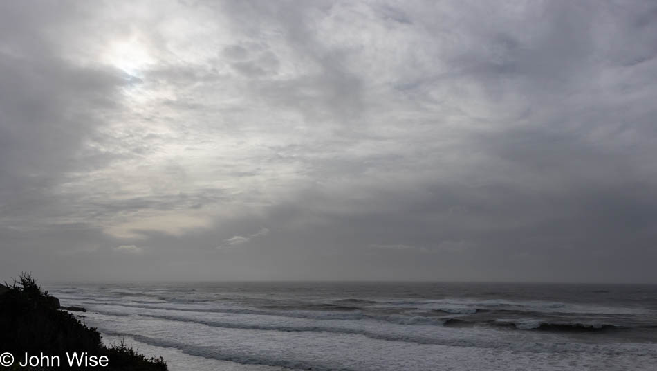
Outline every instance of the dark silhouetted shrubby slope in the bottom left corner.
<svg viewBox="0 0 657 371">
<path fill-rule="evenodd" d="M 73 314 L 59 310 L 59 300 L 41 290 L 31 275 L 23 273 L 18 280 L 5 285 L 8 290 L 0 293 L 0 350 L 14 354 L 17 361 L 26 352 L 32 355 L 43 353 L 59 356 L 62 368 L 66 368 L 66 352 L 87 352 L 108 357 L 109 365 L 103 370 L 167 370 L 161 356 L 143 356 L 124 343 L 105 347 L 97 329 L 87 327 Z M 39 370 L 21 368 L 26 369 Z"/>
</svg>

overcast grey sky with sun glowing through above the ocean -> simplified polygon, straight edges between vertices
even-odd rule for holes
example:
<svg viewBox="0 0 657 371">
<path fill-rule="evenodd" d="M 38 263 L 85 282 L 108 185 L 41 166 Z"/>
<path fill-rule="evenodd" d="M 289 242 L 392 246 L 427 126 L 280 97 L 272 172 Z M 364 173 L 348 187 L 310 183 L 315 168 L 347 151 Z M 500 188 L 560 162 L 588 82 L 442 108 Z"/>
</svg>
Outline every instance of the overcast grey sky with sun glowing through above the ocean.
<svg viewBox="0 0 657 371">
<path fill-rule="evenodd" d="M 1 1 L 0 278 L 657 282 L 654 1 Z"/>
</svg>

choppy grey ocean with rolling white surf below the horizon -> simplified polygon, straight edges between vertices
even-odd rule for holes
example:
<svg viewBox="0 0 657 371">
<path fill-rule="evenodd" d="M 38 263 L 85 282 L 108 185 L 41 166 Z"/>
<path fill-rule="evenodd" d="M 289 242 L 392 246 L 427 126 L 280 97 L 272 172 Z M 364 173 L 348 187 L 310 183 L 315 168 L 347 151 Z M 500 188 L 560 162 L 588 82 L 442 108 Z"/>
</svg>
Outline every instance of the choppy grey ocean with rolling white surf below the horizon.
<svg viewBox="0 0 657 371">
<path fill-rule="evenodd" d="M 107 283 L 46 289 L 176 370 L 657 370 L 657 286 Z"/>
</svg>

